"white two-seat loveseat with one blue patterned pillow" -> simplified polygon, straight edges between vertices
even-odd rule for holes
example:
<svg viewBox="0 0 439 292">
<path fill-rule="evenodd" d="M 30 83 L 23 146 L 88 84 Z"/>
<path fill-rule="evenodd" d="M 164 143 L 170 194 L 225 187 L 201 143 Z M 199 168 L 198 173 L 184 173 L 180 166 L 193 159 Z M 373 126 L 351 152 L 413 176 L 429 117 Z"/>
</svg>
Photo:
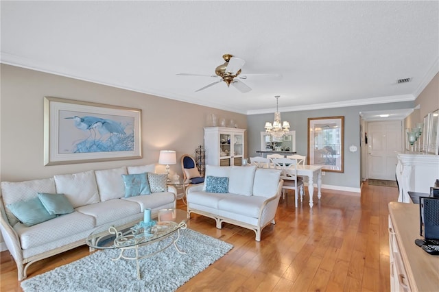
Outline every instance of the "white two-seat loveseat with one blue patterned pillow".
<svg viewBox="0 0 439 292">
<path fill-rule="evenodd" d="M 212 186 L 224 185 L 222 178 L 228 180 L 226 187 Z M 256 241 L 261 241 L 261 230 L 275 223 L 282 186 L 281 171 L 276 169 L 206 165 L 204 184 L 187 189 L 187 211 L 215 219 L 218 229 L 227 222 L 253 230 Z"/>
</svg>

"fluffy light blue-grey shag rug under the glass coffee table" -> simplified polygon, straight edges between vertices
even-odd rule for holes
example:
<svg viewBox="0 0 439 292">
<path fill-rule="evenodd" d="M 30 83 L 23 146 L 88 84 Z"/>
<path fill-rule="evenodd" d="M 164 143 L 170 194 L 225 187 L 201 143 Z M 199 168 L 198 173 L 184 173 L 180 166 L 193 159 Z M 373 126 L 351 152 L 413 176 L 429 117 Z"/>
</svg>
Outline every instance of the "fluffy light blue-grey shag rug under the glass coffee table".
<svg viewBox="0 0 439 292">
<path fill-rule="evenodd" d="M 169 240 L 141 247 L 139 255 L 156 251 Z M 135 260 L 111 260 L 119 256 L 116 249 L 98 251 L 23 280 L 21 288 L 25 292 L 175 291 L 233 248 L 229 243 L 190 229 L 181 230 L 177 245 L 186 254 L 180 254 L 171 245 L 163 252 L 139 260 L 141 280 L 137 280 Z M 130 255 L 128 251 L 125 254 Z"/>
</svg>

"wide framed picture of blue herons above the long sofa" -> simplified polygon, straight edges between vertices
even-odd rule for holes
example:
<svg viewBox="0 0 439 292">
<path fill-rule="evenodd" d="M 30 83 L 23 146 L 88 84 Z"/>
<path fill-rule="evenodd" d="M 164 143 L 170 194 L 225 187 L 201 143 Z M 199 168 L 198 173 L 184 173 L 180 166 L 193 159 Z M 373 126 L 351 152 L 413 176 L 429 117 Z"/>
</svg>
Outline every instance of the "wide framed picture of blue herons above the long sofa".
<svg viewBox="0 0 439 292">
<path fill-rule="evenodd" d="M 142 158 L 141 110 L 44 99 L 44 165 Z"/>
</svg>

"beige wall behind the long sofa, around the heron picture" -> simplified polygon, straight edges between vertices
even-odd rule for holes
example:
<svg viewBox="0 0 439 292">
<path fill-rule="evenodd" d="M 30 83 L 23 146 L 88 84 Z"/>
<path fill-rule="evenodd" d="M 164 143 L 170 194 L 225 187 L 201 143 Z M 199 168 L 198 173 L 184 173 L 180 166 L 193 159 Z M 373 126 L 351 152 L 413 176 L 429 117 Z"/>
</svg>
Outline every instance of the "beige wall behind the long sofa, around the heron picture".
<svg viewBox="0 0 439 292">
<path fill-rule="evenodd" d="M 143 158 L 72 165 L 43 165 L 43 98 L 45 96 L 140 108 Z M 176 150 L 177 165 L 171 173 L 182 175 L 180 157 L 195 156 L 203 142 L 203 127 L 210 114 L 234 119 L 246 128 L 244 114 L 196 106 L 182 101 L 135 93 L 68 77 L 1 64 L 0 180 L 21 181 L 49 178 L 58 173 L 110 169 L 123 165 L 146 165 L 158 161 L 163 149 Z M 164 167 L 163 167 L 164 169 Z"/>
</svg>

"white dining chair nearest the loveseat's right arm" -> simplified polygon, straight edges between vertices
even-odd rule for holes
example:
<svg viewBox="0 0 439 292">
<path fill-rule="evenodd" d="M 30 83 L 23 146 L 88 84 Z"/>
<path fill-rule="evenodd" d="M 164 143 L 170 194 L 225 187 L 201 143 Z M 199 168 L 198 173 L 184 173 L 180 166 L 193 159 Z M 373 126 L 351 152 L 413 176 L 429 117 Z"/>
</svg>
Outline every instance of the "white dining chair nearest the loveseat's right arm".
<svg viewBox="0 0 439 292">
<path fill-rule="evenodd" d="M 282 197 L 285 199 L 285 191 L 294 190 L 294 206 L 297 208 L 298 193 L 303 193 L 303 181 L 297 179 L 297 160 L 289 158 L 273 158 L 274 168 L 281 169 L 283 179 Z"/>
</svg>

